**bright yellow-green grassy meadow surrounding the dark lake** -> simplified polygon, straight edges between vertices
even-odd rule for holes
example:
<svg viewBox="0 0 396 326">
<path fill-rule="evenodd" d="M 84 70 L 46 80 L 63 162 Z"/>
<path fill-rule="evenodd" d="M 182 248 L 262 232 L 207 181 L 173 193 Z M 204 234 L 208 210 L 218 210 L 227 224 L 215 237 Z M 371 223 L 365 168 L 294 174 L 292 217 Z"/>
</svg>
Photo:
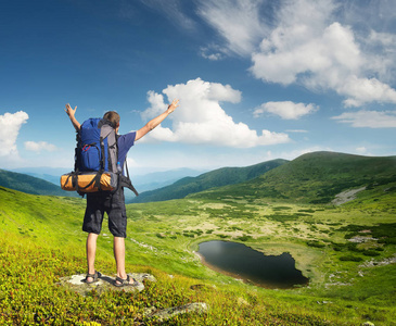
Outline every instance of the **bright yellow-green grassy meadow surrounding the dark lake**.
<svg viewBox="0 0 396 326">
<path fill-rule="evenodd" d="M 206 302 L 207 313 L 162 325 L 396 325 L 396 197 L 386 187 L 338 206 L 231 193 L 128 204 L 127 272 L 157 281 L 87 297 L 58 284 L 86 273 L 85 201 L 0 187 L 0 324 L 158 325 L 148 309 Z M 273 290 L 214 272 L 194 253 L 212 239 L 290 252 L 309 285 Z M 106 223 L 97 268 L 114 275 Z"/>
</svg>

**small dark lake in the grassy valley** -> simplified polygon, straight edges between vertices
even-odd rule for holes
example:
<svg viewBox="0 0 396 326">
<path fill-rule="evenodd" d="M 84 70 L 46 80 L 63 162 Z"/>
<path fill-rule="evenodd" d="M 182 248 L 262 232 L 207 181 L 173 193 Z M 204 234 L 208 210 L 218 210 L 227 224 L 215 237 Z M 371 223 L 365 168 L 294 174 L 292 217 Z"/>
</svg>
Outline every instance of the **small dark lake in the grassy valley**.
<svg viewBox="0 0 396 326">
<path fill-rule="evenodd" d="M 217 240 L 199 247 L 197 253 L 209 268 L 260 287 L 288 289 L 309 280 L 295 268 L 294 259 L 286 252 L 265 255 L 242 243 Z"/>
</svg>

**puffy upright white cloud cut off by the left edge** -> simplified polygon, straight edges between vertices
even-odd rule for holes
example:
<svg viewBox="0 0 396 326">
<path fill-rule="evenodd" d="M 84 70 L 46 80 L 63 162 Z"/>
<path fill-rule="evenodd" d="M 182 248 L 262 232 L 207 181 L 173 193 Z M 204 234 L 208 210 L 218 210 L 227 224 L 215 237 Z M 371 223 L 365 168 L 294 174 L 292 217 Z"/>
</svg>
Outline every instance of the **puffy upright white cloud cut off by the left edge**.
<svg viewBox="0 0 396 326">
<path fill-rule="evenodd" d="M 4 113 L 0 115 L 0 156 L 18 156 L 16 138 L 21 126 L 29 118 L 26 112 Z"/>
</svg>

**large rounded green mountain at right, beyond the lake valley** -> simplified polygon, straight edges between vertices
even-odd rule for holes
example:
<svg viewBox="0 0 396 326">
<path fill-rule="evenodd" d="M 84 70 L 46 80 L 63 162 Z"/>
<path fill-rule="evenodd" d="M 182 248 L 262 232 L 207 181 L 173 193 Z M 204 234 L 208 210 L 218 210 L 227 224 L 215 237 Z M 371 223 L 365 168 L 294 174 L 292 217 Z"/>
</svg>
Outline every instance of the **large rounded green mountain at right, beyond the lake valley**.
<svg viewBox="0 0 396 326">
<path fill-rule="evenodd" d="M 191 195 L 196 198 L 253 196 L 305 203 L 330 203 L 346 189 L 396 185 L 396 156 L 369 158 L 335 152 L 304 154 L 243 184 Z"/>
</svg>

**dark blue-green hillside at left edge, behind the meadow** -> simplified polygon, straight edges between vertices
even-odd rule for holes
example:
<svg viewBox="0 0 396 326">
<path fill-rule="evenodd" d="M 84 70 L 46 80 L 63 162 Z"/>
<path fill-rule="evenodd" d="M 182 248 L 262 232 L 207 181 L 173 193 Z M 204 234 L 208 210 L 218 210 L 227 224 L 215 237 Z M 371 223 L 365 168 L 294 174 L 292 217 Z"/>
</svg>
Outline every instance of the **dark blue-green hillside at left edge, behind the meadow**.
<svg viewBox="0 0 396 326">
<path fill-rule="evenodd" d="M 78 196 L 43 179 L 7 170 L 0 170 L 0 186 L 31 195 Z"/>
</svg>

